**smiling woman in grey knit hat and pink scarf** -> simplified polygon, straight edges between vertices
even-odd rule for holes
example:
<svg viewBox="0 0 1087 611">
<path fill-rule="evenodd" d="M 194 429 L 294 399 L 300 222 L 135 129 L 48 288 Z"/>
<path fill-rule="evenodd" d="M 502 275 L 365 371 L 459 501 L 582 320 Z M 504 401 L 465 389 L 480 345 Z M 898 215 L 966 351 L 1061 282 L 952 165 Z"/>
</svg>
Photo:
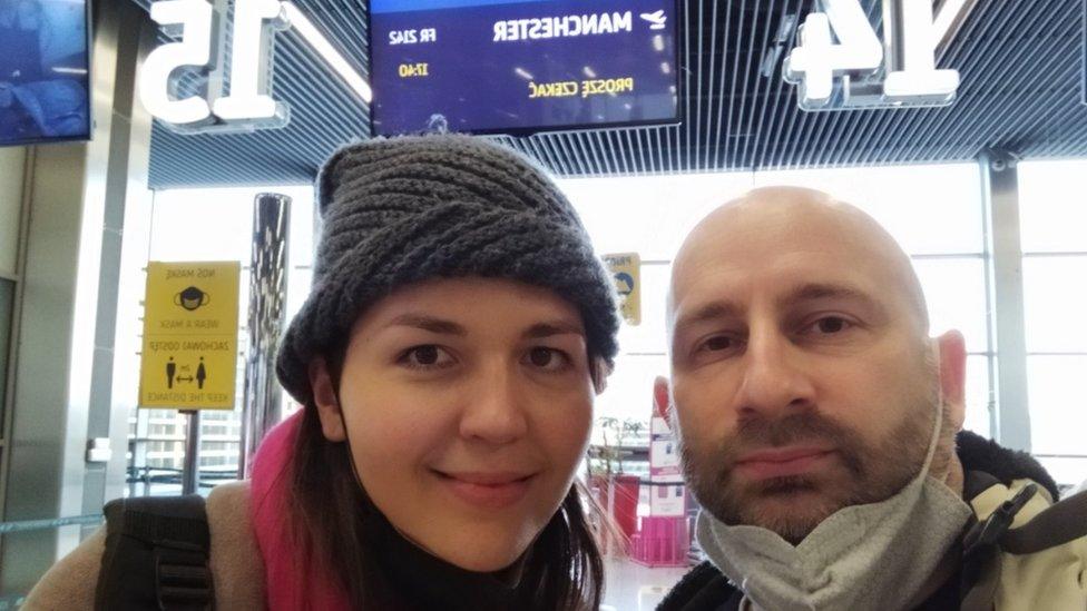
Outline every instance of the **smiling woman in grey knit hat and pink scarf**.
<svg viewBox="0 0 1087 611">
<path fill-rule="evenodd" d="M 305 410 L 252 484 L 208 499 L 218 607 L 596 609 L 574 479 L 618 321 L 572 208 L 461 136 L 351 146 L 319 190 L 313 287 L 277 362 Z M 70 561 L 28 609 L 78 598 L 97 564 Z"/>
</svg>

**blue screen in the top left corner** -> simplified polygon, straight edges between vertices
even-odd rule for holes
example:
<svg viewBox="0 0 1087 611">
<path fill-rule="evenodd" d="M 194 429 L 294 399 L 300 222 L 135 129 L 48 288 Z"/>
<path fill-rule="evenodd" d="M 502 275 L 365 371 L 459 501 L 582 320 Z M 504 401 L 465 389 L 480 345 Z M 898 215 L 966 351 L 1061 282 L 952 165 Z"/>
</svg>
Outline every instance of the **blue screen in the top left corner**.
<svg viewBox="0 0 1087 611">
<path fill-rule="evenodd" d="M 0 0 L 0 146 L 90 137 L 89 0 Z"/>
</svg>

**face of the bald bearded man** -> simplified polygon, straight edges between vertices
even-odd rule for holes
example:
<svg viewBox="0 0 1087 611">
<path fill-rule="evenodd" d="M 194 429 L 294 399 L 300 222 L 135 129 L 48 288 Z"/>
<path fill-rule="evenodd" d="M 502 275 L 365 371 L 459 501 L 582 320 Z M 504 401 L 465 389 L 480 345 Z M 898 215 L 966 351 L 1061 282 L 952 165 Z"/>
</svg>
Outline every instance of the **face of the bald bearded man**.
<svg viewBox="0 0 1087 611">
<path fill-rule="evenodd" d="M 673 278 L 684 469 L 718 520 L 799 543 L 923 463 L 938 378 L 908 263 L 825 210 L 741 206 L 701 229 Z"/>
</svg>

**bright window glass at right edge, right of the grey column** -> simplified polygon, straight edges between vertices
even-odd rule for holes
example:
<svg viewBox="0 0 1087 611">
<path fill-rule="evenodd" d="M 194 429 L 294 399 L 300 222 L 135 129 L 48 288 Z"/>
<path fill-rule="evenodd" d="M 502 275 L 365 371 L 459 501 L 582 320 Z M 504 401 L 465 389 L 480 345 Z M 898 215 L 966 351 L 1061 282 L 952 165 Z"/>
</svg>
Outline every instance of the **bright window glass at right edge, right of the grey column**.
<svg viewBox="0 0 1087 611">
<path fill-rule="evenodd" d="M 1087 481 L 1087 161 L 1019 165 L 1030 441 L 1061 483 Z"/>
</svg>

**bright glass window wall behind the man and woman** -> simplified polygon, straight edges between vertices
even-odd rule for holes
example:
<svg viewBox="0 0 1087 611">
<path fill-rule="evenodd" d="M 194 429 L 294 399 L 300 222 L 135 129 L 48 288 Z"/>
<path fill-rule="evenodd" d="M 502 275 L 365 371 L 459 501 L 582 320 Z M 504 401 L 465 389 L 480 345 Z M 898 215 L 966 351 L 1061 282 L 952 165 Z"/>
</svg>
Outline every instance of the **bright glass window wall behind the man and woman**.
<svg viewBox="0 0 1087 611">
<path fill-rule="evenodd" d="M 1087 312 L 1087 207 L 1068 205 L 1076 193 L 1069 177 L 1084 170 L 1087 162 L 1024 164 L 1020 175 L 1032 451 L 1065 484 L 1087 479 L 1087 402 L 1075 393 L 1077 376 L 1087 373 L 1087 332 L 1076 323 L 1077 315 Z M 980 176 L 973 164 L 562 180 L 597 250 L 638 253 L 643 260 L 642 324 L 625 324 L 620 331 L 621 352 L 597 403 L 598 416 L 648 420 L 653 380 L 668 373 L 664 325 L 672 257 L 709 210 L 765 185 L 825 190 L 871 214 L 899 240 L 928 297 L 932 334 L 957 328 L 967 338 L 966 426 L 990 436 L 997 355 L 989 344 L 992 304 L 986 284 Z M 287 289 L 287 314 L 293 316 L 312 277 L 312 190 L 263 190 L 294 197 Z M 241 260 L 243 326 L 256 193 L 160 191 L 149 236 L 153 260 Z M 138 322 L 129 324 L 138 334 Z M 241 339 L 244 347 L 244 328 Z M 238 406 L 243 366 L 239 355 Z M 135 371 L 133 380 L 118 382 L 117 387 L 131 388 L 135 405 Z M 287 404 L 287 411 L 296 407 Z M 238 410 L 205 412 L 202 469 L 209 477 L 236 469 Z M 184 420 L 174 412 L 140 412 L 140 418 L 133 418 L 133 441 L 139 449 L 135 465 L 180 469 Z"/>
</svg>

